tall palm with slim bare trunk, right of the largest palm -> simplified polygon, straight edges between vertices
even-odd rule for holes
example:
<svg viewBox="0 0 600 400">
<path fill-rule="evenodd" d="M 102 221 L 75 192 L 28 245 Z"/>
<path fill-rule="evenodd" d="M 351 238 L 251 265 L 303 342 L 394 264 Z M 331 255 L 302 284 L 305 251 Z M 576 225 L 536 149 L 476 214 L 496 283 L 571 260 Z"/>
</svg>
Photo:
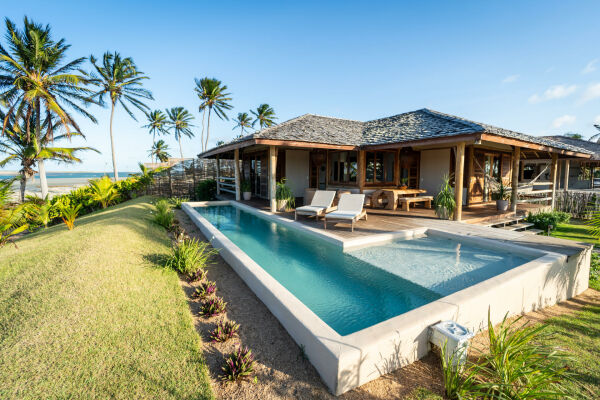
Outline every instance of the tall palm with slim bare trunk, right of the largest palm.
<svg viewBox="0 0 600 400">
<path fill-rule="evenodd" d="M 97 60 L 94 56 L 90 56 L 90 62 L 95 69 L 95 72 L 90 74 L 90 82 L 99 88 L 91 96 L 91 99 L 95 99 L 100 105 L 104 105 L 105 96 L 110 97 L 110 148 L 115 175 L 114 180 L 116 181 L 119 179 L 119 171 L 117 170 L 115 141 L 112 131 L 115 107 L 120 104 L 127 114 L 137 121 L 127 104 L 145 113 L 150 107 L 142 100 L 153 100 L 152 92 L 142 87 L 143 80 L 148 79 L 148 77 L 137 69 L 131 57 L 121 58 L 121 55 L 117 52 L 114 54 L 106 52 L 102 58 L 102 65 L 96 64 Z"/>
</svg>

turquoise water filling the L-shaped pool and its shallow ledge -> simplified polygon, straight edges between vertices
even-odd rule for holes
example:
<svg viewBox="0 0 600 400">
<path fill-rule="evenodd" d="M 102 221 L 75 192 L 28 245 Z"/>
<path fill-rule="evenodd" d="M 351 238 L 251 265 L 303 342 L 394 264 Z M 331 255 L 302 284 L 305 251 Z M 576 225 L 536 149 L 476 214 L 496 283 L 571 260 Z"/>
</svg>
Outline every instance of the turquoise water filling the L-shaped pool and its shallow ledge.
<svg viewBox="0 0 600 400">
<path fill-rule="evenodd" d="M 234 206 L 195 210 L 342 336 L 529 261 L 435 237 L 344 253 Z"/>
</svg>

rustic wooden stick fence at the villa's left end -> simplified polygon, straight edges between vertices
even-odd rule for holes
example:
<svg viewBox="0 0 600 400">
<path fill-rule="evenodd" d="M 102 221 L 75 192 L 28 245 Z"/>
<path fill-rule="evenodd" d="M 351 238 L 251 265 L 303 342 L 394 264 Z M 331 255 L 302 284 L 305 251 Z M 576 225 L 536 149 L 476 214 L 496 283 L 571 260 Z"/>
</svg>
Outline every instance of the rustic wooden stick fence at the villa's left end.
<svg viewBox="0 0 600 400">
<path fill-rule="evenodd" d="M 234 161 L 221 160 L 220 176 L 234 176 Z M 198 182 L 217 178 L 217 162 L 214 159 L 190 159 L 159 172 L 148 187 L 148 194 L 164 197 L 189 197 L 194 200 Z"/>
</svg>

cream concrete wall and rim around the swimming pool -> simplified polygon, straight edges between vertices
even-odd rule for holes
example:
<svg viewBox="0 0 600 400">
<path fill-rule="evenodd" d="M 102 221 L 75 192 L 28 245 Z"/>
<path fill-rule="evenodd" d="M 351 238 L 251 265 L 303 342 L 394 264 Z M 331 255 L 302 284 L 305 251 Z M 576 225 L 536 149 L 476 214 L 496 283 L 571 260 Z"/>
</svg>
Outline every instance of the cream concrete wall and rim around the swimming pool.
<svg viewBox="0 0 600 400">
<path fill-rule="evenodd" d="M 193 208 L 211 205 L 233 205 L 292 229 L 319 235 L 344 250 L 427 234 L 536 258 L 387 321 L 340 336 Z M 478 331 L 487 326 L 488 309 L 492 322 L 498 323 L 507 313 L 514 315 L 546 307 L 588 287 L 590 249 L 567 257 L 504 241 L 427 228 L 342 239 L 332 232 L 233 201 L 184 203 L 182 208 L 212 245 L 221 249 L 225 261 L 294 340 L 304 346 L 310 362 L 336 395 L 425 356 L 430 350 L 428 327 L 441 320 L 454 320 Z"/>
</svg>

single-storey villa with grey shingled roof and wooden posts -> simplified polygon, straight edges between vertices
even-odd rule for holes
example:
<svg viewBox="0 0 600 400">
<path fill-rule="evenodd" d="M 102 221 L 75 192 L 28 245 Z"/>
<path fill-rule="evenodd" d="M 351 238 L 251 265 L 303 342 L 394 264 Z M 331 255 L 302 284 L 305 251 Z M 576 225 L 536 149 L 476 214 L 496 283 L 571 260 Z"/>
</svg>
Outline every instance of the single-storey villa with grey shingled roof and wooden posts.
<svg viewBox="0 0 600 400">
<path fill-rule="evenodd" d="M 526 199 L 512 196 L 511 210 L 553 203 L 558 185 L 552 182 L 559 176 L 559 166 L 592 157 L 592 151 L 576 144 L 421 109 L 367 122 L 306 114 L 199 157 L 242 160 L 241 171 L 236 169 L 236 199 L 244 179 L 254 197 L 270 200 L 272 211 L 275 184 L 284 177 L 295 196 L 302 197 L 306 188 L 368 194 L 400 186 L 435 195 L 444 176 L 450 176 L 456 182 L 454 219 L 460 221 L 463 206 L 484 205 L 492 199 L 490 176 L 511 185 L 513 193 L 520 192 L 520 182 L 536 177 L 524 165 L 546 160 L 545 190 Z"/>
</svg>

